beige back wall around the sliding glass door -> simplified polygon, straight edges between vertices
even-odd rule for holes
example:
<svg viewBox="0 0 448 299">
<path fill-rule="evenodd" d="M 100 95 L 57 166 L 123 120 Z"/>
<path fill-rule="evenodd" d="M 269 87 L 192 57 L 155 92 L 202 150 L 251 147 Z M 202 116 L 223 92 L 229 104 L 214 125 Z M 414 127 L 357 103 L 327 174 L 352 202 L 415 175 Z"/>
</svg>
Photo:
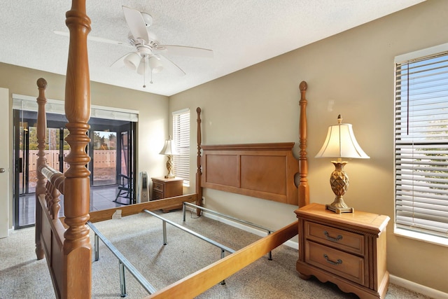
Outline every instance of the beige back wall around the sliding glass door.
<svg viewBox="0 0 448 299">
<path fill-rule="evenodd" d="M 0 63 L 0 87 L 8 88 L 10 93 L 9 132 L 13 132 L 12 94 L 37 97 L 36 81 L 41 77 L 48 82 L 45 92 L 48 99 L 63 100 L 65 98 L 65 76 Z M 94 82 L 91 83 L 90 94 L 92 105 L 139 111 L 139 123 L 137 125 L 137 173 L 146 171 L 150 177 L 163 176 L 166 172 L 166 161 L 165 156 L 159 155 L 159 152 L 169 135 L 168 97 Z M 8 143 L 11 153 L 13 148 L 12 135 L 10 134 Z M 10 196 L 10 199 L 10 211 L 8 214 L 10 219 L 9 226 L 12 227 L 12 196 Z"/>
</svg>

